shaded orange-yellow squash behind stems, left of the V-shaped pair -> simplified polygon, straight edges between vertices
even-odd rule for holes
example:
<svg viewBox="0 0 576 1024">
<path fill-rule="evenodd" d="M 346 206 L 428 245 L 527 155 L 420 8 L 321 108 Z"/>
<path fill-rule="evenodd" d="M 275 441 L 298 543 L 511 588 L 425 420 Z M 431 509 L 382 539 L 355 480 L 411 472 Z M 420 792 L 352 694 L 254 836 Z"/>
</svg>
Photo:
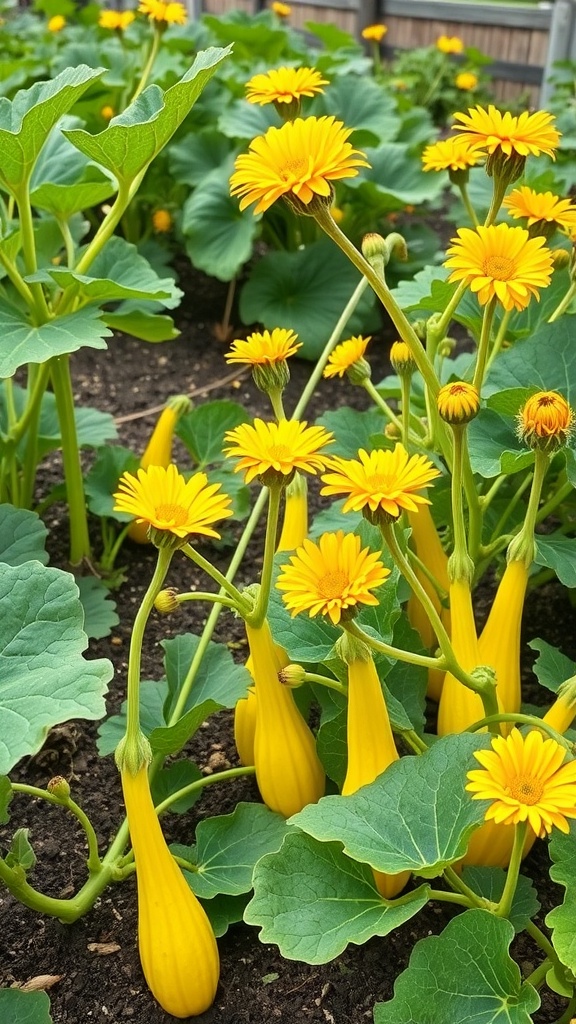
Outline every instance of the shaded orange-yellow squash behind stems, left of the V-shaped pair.
<svg viewBox="0 0 576 1024">
<path fill-rule="evenodd" d="M 418 506 L 417 512 L 408 512 L 408 521 L 412 528 L 412 543 L 418 558 L 425 564 L 442 589 L 448 592 L 450 588 L 448 556 L 442 547 L 429 507 L 421 505 Z M 449 609 L 445 608 L 442 604 L 438 591 L 426 573 L 416 568 L 416 575 L 438 611 L 444 628 L 450 634 Z M 424 647 L 428 650 L 436 650 L 438 647 L 436 634 L 421 602 L 415 594 L 410 595 L 407 612 L 410 625 L 420 634 Z M 429 669 L 426 695 L 433 700 L 440 700 L 443 683 L 444 673 L 439 672 L 438 669 Z"/>
</svg>

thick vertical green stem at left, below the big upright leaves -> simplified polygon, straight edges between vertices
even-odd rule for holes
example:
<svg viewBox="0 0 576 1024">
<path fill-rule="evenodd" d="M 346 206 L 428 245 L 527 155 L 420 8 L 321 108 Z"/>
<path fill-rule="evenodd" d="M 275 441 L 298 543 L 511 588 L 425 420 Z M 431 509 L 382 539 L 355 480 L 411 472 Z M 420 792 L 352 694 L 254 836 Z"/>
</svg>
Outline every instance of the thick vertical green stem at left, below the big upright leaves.
<svg viewBox="0 0 576 1024">
<path fill-rule="evenodd" d="M 84 558 L 90 558 L 91 550 L 84 498 L 84 480 L 82 478 L 78 434 L 74 418 L 74 394 L 70 377 L 70 355 L 53 356 L 49 360 L 49 364 L 58 413 L 66 493 L 70 514 L 70 561 L 73 565 L 78 565 Z"/>
</svg>

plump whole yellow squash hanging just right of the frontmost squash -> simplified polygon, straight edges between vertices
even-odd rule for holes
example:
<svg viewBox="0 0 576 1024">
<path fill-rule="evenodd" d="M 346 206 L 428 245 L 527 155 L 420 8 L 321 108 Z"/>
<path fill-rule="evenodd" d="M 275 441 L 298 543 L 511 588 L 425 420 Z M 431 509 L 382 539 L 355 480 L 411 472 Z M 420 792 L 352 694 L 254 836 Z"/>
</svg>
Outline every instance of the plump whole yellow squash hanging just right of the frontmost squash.
<svg viewBox="0 0 576 1024">
<path fill-rule="evenodd" d="M 246 635 L 256 693 L 256 781 L 266 806 L 289 817 L 324 795 L 324 769 L 292 690 L 278 678 L 288 657 L 280 656 L 266 622 L 258 629 L 247 623 Z"/>
</svg>

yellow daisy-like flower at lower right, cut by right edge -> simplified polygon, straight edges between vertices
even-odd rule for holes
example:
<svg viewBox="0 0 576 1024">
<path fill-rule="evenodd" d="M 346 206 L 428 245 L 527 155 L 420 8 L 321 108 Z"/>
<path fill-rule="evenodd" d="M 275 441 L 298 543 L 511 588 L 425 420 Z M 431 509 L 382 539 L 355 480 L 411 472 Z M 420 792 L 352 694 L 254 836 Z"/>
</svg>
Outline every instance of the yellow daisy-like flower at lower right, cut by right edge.
<svg viewBox="0 0 576 1024">
<path fill-rule="evenodd" d="M 568 833 L 567 818 L 576 818 L 576 761 L 566 764 L 566 751 L 538 729 L 523 736 L 511 729 L 495 736 L 491 751 L 475 751 L 482 769 L 467 773 L 472 800 L 491 800 L 486 819 L 499 824 L 528 821 L 537 836 L 552 826 Z"/>
</svg>

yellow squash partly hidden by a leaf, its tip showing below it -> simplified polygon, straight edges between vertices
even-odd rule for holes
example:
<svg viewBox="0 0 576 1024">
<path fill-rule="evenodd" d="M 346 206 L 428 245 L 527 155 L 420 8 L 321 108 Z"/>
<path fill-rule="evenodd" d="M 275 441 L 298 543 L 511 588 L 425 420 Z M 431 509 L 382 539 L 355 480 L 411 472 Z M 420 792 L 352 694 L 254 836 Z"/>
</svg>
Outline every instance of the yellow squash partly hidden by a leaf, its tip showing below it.
<svg viewBox="0 0 576 1024">
<path fill-rule="evenodd" d="M 386 702 L 372 658 L 354 658 L 348 664 L 347 769 L 342 797 L 373 782 L 398 761 Z M 374 882 L 381 896 L 394 899 L 401 892 L 410 871 L 386 874 L 374 871 Z"/>
</svg>

